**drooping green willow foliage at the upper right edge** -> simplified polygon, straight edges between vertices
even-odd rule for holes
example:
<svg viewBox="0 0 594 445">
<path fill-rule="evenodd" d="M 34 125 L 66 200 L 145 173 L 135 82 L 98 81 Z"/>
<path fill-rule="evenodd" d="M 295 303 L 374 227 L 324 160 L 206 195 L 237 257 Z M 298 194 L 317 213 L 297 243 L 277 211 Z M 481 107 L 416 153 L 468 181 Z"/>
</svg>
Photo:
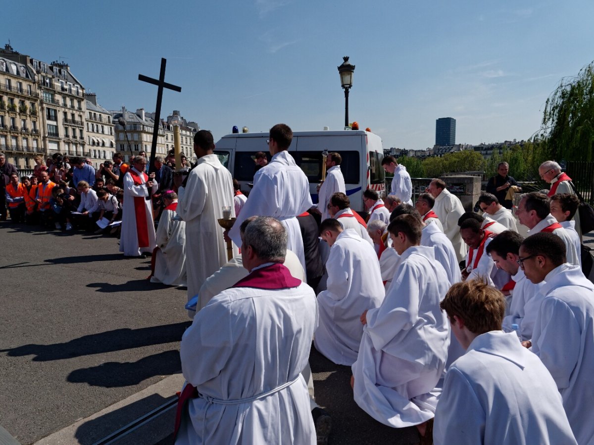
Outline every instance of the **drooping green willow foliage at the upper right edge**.
<svg viewBox="0 0 594 445">
<path fill-rule="evenodd" d="M 539 133 L 551 158 L 592 161 L 594 148 L 594 62 L 576 77 L 561 80 L 546 100 Z"/>
</svg>

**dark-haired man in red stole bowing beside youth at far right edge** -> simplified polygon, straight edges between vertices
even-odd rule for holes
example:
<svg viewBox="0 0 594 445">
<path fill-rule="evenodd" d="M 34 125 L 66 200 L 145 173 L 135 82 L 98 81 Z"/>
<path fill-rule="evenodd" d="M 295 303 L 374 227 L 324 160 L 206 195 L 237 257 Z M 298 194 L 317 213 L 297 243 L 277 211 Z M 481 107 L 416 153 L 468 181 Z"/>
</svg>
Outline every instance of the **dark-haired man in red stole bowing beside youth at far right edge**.
<svg viewBox="0 0 594 445">
<path fill-rule="evenodd" d="M 525 193 L 520 199 L 516 215 L 520 224 L 525 225 L 530 230 L 529 235 L 539 232 L 548 232 L 557 235 L 565 244 L 567 262 L 580 265 L 580 259 L 577 255 L 576 246 L 571 240 L 567 230 L 551 215 L 549 198 L 544 193 L 531 192 Z"/>
</svg>

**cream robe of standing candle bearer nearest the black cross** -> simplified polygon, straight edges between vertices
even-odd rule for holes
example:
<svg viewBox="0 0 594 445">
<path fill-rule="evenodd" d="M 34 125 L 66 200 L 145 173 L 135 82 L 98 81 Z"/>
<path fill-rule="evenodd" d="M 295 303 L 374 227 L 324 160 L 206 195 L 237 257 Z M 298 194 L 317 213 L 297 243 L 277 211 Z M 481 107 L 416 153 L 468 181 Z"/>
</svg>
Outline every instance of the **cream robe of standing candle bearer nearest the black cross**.
<svg viewBox="0 0 594 445">
<path fill-rule="evenodd" d="M 208 154 L 198 159 L 185 189 L 179 190 L 178 215 L 186 223 L 189 301 L 198 294 L 204 280 L 227 262 L 225 229 L 217 220 L 223 218 L 223 206 L 229 206 L 235 217 L 233 179 L 217 155 Z M 237 255 L 236 249 L 233 255 Z"/>
</svg>

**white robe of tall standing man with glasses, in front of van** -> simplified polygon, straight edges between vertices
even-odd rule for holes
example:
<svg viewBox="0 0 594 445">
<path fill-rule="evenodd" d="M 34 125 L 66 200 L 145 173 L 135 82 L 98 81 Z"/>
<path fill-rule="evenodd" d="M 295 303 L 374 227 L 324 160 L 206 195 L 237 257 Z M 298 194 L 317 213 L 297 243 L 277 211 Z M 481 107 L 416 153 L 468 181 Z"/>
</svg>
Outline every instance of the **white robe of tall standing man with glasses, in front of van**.
<svg viewBox="0 0 594 445">
<path fill-rule="evenodd" d="M 270 163 L 256 172 L 254 187 L 241 209 L 241 215 L 229 231 L 229 237 L 237 246 L 241 246 L 239 227 L 247 218 L 277 218 L 287 230 L 287 249 L 295 252 L 306 270 L 303 237 L 296 217 L 312 205 L 307 176 L 288 151 L 279 151 Z"/>
</svg>

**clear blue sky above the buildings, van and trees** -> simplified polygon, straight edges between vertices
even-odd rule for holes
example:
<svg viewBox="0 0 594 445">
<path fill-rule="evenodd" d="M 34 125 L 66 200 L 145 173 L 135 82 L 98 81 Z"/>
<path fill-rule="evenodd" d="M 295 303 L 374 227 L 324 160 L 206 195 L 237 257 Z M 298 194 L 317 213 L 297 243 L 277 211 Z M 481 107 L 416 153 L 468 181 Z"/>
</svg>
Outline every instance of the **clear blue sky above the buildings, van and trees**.
<svg viewBox="0 0 594 445">
<path fill-rule="evenodd" d="M 173 5 L 178 5 L 173 7 Z M 342 129 L 337 66 L 356 66 L 350 120 L 384 148 L 435 142 L 435 119 L 457 120 L 456 142 L 525 139 L 539 129 L 561 78 L 594 59 L 583 1 L 57 1 L 5 4 L 0 44 L 45 62 L 60 56 L 109 110 L 180 110 L 213 132 L 285 122 Z"/>
</svg>

